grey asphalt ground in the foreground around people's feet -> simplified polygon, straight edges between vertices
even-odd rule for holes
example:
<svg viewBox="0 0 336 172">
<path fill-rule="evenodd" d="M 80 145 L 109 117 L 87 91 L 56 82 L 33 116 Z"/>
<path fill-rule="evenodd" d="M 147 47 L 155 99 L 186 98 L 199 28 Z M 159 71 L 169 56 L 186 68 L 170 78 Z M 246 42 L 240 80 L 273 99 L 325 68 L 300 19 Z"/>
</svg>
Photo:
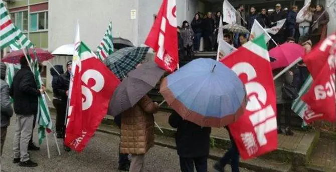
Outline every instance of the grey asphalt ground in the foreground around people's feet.
<svg viewBox="0 0 336 172">
<path fill-rule="evenodd" d="M 12 125 L 8 128 L 7 140 L 5 142 L 4 154 L 2 156 L 1 169 L 8 172 L 22 171 L 118 171 L 118 143 L 119 137 L 115 135 L 97 132 L 92 138 L 89 145 L 82 153 L 64 152 L 61 150 L 61 155 L 58 156 L 55 141 L 49 136 L 49 145 L 51 158 L 48 159 L 46 141 L 41 145 L 40 151 L 32 151 L 32 160 L 39 163 L 38 167 L 27 168 L 20 167 L 18 164 L 12 163 L 12 144 L 14 136 L 15 117 L 12 118 Z M 37 130 L 35 131 L 35 136 Z M 37 140 L 37 137 L 35 137 Z M 58 140 L 59 144 L 62 140 Z M 180 171 L 179 160 L 175 149 L 170 149 L 161 146 L 154 146 L 150 149 L 145 157 L 145 171 Z M 214 171 L 211 166 L 213 160 L 209 159 L 209 171 Z M 231 171 L 227 167 L 227 171 Z M 241 169 L 241 172 L 251 172 L 247 169 Z"/>
</svg>

